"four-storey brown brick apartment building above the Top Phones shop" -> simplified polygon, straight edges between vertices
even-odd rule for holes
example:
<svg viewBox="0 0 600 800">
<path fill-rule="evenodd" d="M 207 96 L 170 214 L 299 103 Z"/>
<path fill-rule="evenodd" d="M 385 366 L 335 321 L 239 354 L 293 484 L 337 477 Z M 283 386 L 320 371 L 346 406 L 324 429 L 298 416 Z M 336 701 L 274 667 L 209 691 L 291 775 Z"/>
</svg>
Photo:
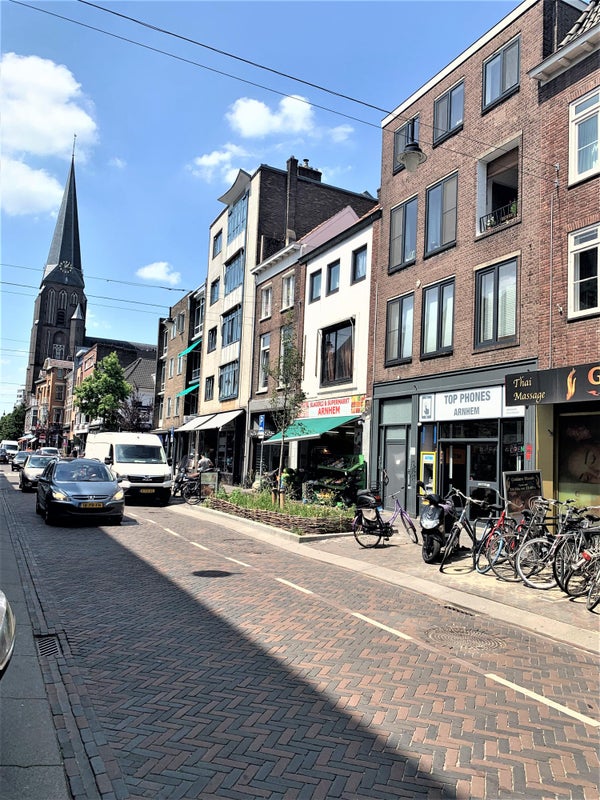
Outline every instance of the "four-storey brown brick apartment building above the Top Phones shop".
<svg viewBox="0 0 600 800">
<path fill-rule="evenodd" d="M 537 468 L 536 409 L 505 397 L 548 347 L 556 170 L 529 73 L 585 8 L 525 0 L 382 122 L 370 461 L 413 508 L 418 479 L 493 497 Z"/>
</svg>

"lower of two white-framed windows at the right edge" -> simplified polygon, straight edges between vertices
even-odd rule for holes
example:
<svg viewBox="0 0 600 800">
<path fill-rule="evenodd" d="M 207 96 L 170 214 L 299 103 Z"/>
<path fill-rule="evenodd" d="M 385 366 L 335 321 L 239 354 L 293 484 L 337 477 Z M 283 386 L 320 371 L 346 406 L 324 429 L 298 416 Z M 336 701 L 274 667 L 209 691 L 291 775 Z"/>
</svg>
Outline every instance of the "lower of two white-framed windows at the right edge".
<svg viewBox="0 0 600 800">
<path fill-rule="evenodd" d="M 569 234 L 569 318 L 600 312 L 600 225 Z"/>
</svg>

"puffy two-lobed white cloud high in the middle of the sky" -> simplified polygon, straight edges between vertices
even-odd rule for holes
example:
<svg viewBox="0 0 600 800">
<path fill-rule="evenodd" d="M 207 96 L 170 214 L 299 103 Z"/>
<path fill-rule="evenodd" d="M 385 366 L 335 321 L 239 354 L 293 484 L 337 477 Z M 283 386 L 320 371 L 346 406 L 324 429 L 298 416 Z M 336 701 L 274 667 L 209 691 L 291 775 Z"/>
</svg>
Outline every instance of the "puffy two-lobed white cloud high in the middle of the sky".
<svg viewBox="0 0 600 800">
<path fill-rule="evenodd" d="M 243 138 L 259 138 L 281 134 L 310 133 L 314 129 L 312 106 L 299 95 L 284 97 L 272 111 L 260 100 L 240 97 L 227 112 L 226 118 Z"/>
</svg>

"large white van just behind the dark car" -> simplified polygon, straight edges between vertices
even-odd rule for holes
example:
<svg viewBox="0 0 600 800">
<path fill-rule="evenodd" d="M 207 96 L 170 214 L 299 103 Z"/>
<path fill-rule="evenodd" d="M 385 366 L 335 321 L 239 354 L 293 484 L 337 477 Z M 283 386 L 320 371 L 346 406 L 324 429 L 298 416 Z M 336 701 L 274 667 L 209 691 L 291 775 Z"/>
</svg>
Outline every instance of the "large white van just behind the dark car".
<svg viewBox="0 0 600 800">
<path fill-rule="evenodd" d="M 157 500 L 166 506 L 171 497 L 171 468 L 162 442 L 153 433 L 88 434 L 85 457 L 108 464 L 125 499 Z"/>
</svg>

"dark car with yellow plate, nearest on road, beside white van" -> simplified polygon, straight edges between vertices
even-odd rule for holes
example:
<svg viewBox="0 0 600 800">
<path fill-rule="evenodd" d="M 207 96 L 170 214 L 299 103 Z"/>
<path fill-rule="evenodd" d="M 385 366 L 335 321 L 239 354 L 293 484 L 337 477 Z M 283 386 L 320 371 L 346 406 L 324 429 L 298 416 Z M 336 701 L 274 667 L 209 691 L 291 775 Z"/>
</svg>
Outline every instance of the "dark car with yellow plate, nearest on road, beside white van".
<svg viewBox="0 0 600 800">
<path fill-rule="evenodd" d="M 97 459 L 52 460 L 38 478 L 35 510 L 47 525 L 61 517 L 120 525 L 124 497 L 114 473 Z"/>
</svg>

